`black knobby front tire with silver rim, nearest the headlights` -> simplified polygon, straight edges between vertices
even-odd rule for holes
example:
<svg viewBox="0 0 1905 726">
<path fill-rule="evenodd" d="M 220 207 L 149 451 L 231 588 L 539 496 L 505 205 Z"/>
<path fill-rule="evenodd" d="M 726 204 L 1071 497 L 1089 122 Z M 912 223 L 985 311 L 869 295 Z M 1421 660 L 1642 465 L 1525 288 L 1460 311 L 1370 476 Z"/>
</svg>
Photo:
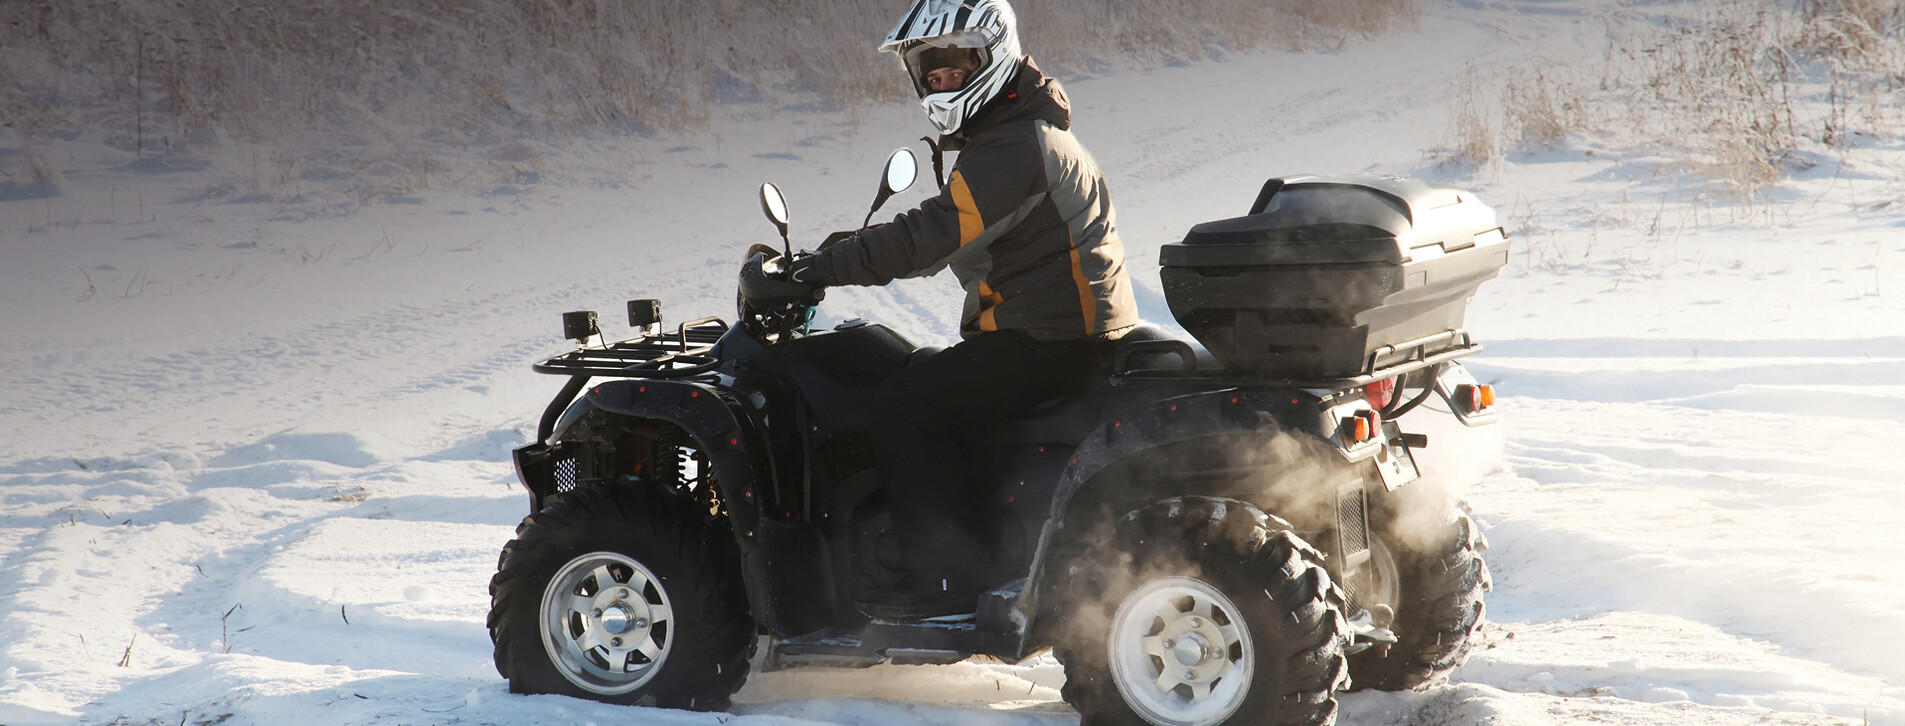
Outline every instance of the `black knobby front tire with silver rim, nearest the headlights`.
<svg viewBox="0 0 1905 726">
<path fill-rule="evenodd" d="M 490 579 L 495 669 L 518 694 L 726 709 L 754 621 L 720 520 L 640 480 L 522 520 Z"/>
</svg>

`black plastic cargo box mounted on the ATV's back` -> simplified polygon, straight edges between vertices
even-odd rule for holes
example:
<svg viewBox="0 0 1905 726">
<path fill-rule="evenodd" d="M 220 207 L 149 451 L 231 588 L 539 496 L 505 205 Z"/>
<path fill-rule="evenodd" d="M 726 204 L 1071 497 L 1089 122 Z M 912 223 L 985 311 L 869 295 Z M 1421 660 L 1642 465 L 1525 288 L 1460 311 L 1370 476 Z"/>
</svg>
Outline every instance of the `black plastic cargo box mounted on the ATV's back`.
<svg viewBox="0 0 1905 726">
<path fill-rule="evenodd" d="M 1469 297 L 1509 261 L 1495 212 L 1461 189 L 1387 175 L 1271 179 L 1250 215 L 1158 253 L 1164 299 L 1229 370 L 1368 373 L 1377 351 L 1461 345 Z M 1429 339 L 1423 343 L 1423 339 Z"/>
</svg>

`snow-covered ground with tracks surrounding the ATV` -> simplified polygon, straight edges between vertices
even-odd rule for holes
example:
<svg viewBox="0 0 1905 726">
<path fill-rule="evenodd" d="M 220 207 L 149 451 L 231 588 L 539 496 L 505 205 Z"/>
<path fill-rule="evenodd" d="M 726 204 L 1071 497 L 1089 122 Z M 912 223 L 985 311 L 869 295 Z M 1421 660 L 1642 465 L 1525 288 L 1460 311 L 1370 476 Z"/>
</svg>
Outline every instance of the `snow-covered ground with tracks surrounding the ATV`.
<svg viewBox="0 0 1905 726">
<path fill-rule="evenodd" d="M 1598 17 L 1425 2 L 1419 30 L 1330 53 L 1067 88 L 1149 320 L 1156 248 L 1269 175 L 1454 179 L 1516 236 L 1469 314 L 1505 421 L 1406 419 L 1494 545 L 1486 644 L 1446 686 L 1343 696 L 1343 724 L 1905 724 L 1905 145 L 1814 154 L 1755 206 L 1577 141 L 1436 160 L 1465 84 L 1598 57 Z M 0 724 L 1076 722 L 1050 657 L 764 673 L 735 715 L 511 696 L 491 669 L 486 585 L 526 509 L 507 459 L 560 383 L 528 372 L 568 345 L 558 313 L 732 314 L 772 236 L 760 181 L 813 244 L 926 130 L 907 105 L 766 111 L 471 147 L 370 198 L 269 149 L 36 139 L 59 194 L 0 200 Z M 560 171 L 446 179 L 512 160 Z M 930 345 L 956 309 L 933 278 L 821 316 Z"/>
</svg>

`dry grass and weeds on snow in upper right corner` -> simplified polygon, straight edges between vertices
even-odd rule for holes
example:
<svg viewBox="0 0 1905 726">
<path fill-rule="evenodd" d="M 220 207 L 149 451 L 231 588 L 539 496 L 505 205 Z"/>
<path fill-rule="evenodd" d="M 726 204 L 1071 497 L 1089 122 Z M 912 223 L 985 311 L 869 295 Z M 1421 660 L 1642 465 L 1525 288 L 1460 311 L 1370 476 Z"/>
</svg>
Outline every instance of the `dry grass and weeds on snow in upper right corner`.
<svg viewBox="0 0 1905 726">
<path fill-rule="evenodd" d="M 1751 202 L 1795 168 L 1798 151 L 1897 135 L 1901 0 L 1714 0 L 1610 23 L 1596 67 L 1572 76 L 1556 69 L 1579 63 L 1509 71 L 1501 133 L 1490 137 L 1457 114 L 1450 126 L 1459 143 L 1446 156 L 1474 162 L 1499 152 L 1495 145 L 1625 135 Z"/>
</svg>

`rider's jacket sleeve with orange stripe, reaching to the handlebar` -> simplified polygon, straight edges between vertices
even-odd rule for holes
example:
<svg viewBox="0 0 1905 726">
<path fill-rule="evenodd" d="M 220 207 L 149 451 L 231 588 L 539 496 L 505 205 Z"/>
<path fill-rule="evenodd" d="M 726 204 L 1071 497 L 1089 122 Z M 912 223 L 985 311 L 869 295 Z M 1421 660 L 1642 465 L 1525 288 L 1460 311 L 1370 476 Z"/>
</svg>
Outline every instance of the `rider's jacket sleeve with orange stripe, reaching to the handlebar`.
<svg viewBox="0 0 1905 726">
<path fill-rule="evenodd" d="M 970 147 L 937 196 L 827 248 L 832 274 L 840 284 L 886 284 L 985 250 L 1044 200 L 1044 175 L 1033 135 Z"/>
</svg>

